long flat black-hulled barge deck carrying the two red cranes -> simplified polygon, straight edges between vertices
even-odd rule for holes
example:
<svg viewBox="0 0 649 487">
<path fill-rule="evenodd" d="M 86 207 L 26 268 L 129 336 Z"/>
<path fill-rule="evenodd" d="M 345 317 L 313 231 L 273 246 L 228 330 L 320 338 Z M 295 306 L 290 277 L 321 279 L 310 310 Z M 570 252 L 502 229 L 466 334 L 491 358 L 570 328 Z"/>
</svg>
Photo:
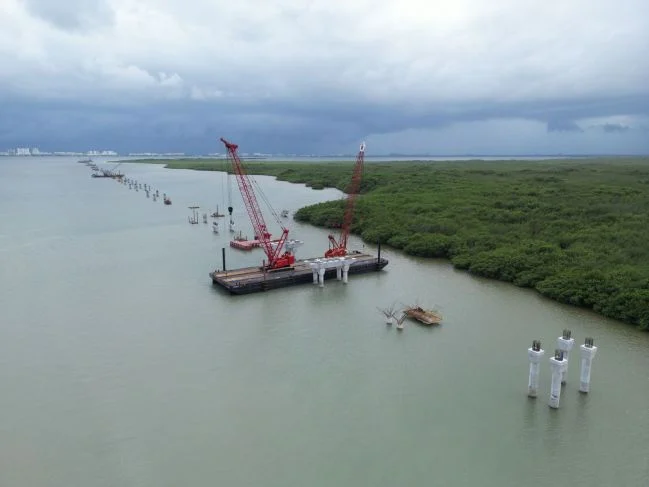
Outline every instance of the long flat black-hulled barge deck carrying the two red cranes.
<svg viewBox="0 0 649 487">
<path fill-rule="evenodd" d="M 369 254 L 352 254 L 355 260 L 349 266 L 349 275 L 380 271 L 388 260 Z M 227 290 L 230 294 L 250 294 L 268 291 L 297 284 L 313 283 L 313 270 L 307 260 L 298 260 L 293 267 L 264 272 L 260 267 L 244 267 L 230 271 L 210 273 L 212 283 Z M 336 269 L 325 271 L 326 279 L 336 279 Z"/>
</svg>

